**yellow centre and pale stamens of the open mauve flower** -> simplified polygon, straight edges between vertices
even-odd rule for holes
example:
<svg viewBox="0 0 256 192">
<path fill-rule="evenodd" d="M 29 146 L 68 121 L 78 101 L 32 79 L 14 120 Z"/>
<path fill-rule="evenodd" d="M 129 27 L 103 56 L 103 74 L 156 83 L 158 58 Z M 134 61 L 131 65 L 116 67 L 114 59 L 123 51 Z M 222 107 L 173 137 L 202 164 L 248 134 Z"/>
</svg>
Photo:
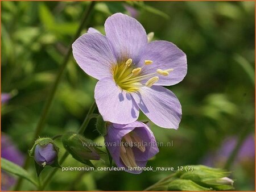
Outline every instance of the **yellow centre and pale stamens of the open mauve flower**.
<svg viewBox="0 0 256 192">
<path fill-rule="evenodd" d="M 114 81 L 119 87 L 121 87 L 121 89 L 128 92 L 135 92 L 139 90 L 139 87 L 151 87 L 159 80 L 159 75 L 168 76 L 169 72 L 174 70 L 157 69 L 155 73 L 143 74 L 143 69 L 151 64 L 153 64 L 153 61 L 145 60 L 144 65 L 141 68 L 135 68 L 133 60 L 129 59 L 124 63 L 115 65 L 113 67 Z M 146 84 L 142 84 L 143 80 L 147 80 Z"/>
</svg>

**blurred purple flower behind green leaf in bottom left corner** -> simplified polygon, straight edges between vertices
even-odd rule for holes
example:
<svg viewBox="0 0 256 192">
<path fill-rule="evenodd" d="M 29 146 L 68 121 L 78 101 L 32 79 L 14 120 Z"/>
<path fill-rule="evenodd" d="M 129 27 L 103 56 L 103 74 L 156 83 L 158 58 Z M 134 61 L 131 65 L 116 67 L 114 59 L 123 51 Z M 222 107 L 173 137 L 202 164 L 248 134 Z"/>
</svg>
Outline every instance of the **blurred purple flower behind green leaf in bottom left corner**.
<svg viewBox="0 0 256 192">
<path fill-rule="evenodd" d="M 15 147 L 14 143 L 5 133 L 1 134 L 1 157 L 20 166 L 24 162 L 24 155 Z M 15 185 L 15 178 L 6 172 L 1 172 L 1 176 L 1 190 L 10 190 L 10 187 Z"/>
</svg>

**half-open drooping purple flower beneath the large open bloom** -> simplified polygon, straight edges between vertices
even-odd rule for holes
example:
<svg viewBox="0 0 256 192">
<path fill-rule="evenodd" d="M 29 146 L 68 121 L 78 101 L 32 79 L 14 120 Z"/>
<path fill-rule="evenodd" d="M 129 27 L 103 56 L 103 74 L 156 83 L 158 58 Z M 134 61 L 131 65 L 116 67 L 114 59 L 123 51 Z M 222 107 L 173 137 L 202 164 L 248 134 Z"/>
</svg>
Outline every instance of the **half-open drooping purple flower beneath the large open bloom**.
<svg viewBox="0 0 256 192">
<path fill-rule="evenodd" d="M 105 145 L 118 167 L 135 174 L 141 173 L 139 168 L 146 166 L 148 159 L 159 152 L 150 128 L 138 121 L 130 124 L 110 123 Z"/>
</svg>

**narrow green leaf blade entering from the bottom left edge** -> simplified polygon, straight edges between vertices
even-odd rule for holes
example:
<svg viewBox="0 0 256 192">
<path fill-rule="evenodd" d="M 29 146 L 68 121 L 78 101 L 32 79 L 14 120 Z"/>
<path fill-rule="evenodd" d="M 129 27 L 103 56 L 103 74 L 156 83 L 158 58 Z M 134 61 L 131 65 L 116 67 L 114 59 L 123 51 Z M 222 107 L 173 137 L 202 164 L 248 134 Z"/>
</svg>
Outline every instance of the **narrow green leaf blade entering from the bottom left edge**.
<svg viewBox="0 0 256 192">
<path fill-rule="evenodd" d="M 1 169 L 18 177 L 22 177 L 25 180 L 33 183 L 35 186 L 38 186 L 38 182 L 36 182 L 25 169 L 11 161 L 6 160 L 5 158 L 1 158 Z"/>
</svg>

